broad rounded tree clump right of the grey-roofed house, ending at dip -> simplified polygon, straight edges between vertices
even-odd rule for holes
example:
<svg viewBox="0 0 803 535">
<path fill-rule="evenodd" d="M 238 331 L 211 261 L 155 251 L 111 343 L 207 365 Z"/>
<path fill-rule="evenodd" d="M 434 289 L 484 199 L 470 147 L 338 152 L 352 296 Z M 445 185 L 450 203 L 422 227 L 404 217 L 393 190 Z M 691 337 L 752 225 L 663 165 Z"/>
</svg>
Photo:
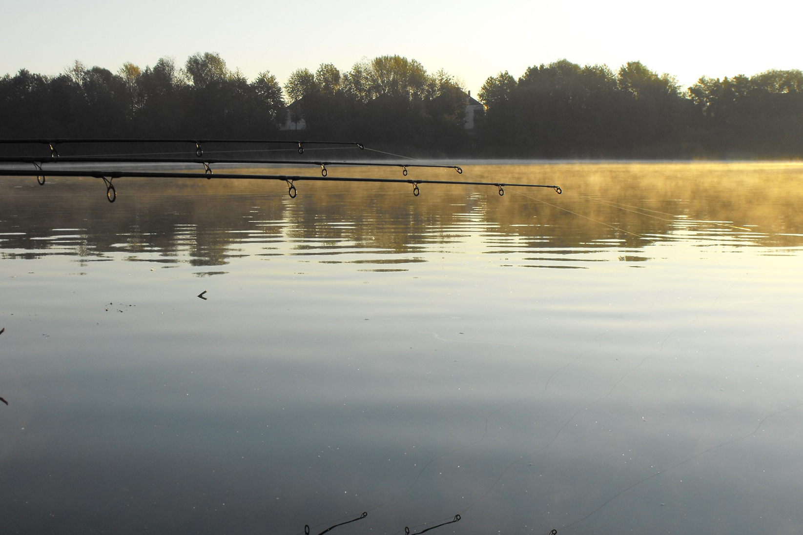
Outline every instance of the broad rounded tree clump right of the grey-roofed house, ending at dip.
<svg viewBox="0 0 803 535">
<path fill-rule="evenodd" d="M 529 67 L 518 81 L 491 76 L 479 97 L 483 144 L 508 156 L 675 156 L 691 109 L 674 79 L 639 62 L 614 75 L 561 59 Z"/>
</svg>

